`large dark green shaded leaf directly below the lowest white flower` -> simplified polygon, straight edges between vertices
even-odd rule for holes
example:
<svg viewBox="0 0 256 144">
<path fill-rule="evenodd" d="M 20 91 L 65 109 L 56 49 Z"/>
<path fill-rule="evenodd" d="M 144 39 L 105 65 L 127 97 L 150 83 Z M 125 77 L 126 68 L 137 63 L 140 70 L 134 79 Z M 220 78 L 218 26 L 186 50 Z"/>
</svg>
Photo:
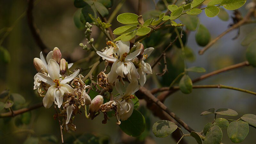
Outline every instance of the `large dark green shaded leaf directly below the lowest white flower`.
<svg viewBox="0 0 256 144">
<path fill-rule="evenodd" d="M 119 125 L 123 132 L 132 136 L 138 137 L 146 128 L 144 116 L 136 109 L 133 109 L 132 115 Z"/>
</svg>

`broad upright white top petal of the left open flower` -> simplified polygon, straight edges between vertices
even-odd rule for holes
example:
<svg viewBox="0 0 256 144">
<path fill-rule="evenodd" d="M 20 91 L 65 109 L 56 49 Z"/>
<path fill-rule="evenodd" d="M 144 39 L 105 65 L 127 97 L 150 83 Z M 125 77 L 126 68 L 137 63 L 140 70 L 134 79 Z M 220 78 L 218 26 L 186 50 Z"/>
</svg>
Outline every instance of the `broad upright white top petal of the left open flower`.
<svg viewBox="0 0 256 144">
<path fill-rule="evenodd" d="M 47 71 L 52 80 L 60 80 L 60 66 L 55 60 L 49 60 L 47 65 Z"/>
</svg>

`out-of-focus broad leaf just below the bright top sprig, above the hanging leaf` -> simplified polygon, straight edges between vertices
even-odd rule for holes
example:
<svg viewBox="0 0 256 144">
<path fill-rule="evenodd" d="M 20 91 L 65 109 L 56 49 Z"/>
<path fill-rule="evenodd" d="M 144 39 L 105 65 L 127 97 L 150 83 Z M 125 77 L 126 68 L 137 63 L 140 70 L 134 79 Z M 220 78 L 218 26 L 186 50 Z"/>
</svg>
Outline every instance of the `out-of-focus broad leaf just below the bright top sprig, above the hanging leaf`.
<svg viewBox="0 0 256 144">
<path fill-rule="evenodd" d="M 181 15 L 179 19 L 186 26 L 186 28 L 192 31 L 196 30 L 199 23 L 199 19 L 197 16 L 184 14 Z"/>
</svg>

